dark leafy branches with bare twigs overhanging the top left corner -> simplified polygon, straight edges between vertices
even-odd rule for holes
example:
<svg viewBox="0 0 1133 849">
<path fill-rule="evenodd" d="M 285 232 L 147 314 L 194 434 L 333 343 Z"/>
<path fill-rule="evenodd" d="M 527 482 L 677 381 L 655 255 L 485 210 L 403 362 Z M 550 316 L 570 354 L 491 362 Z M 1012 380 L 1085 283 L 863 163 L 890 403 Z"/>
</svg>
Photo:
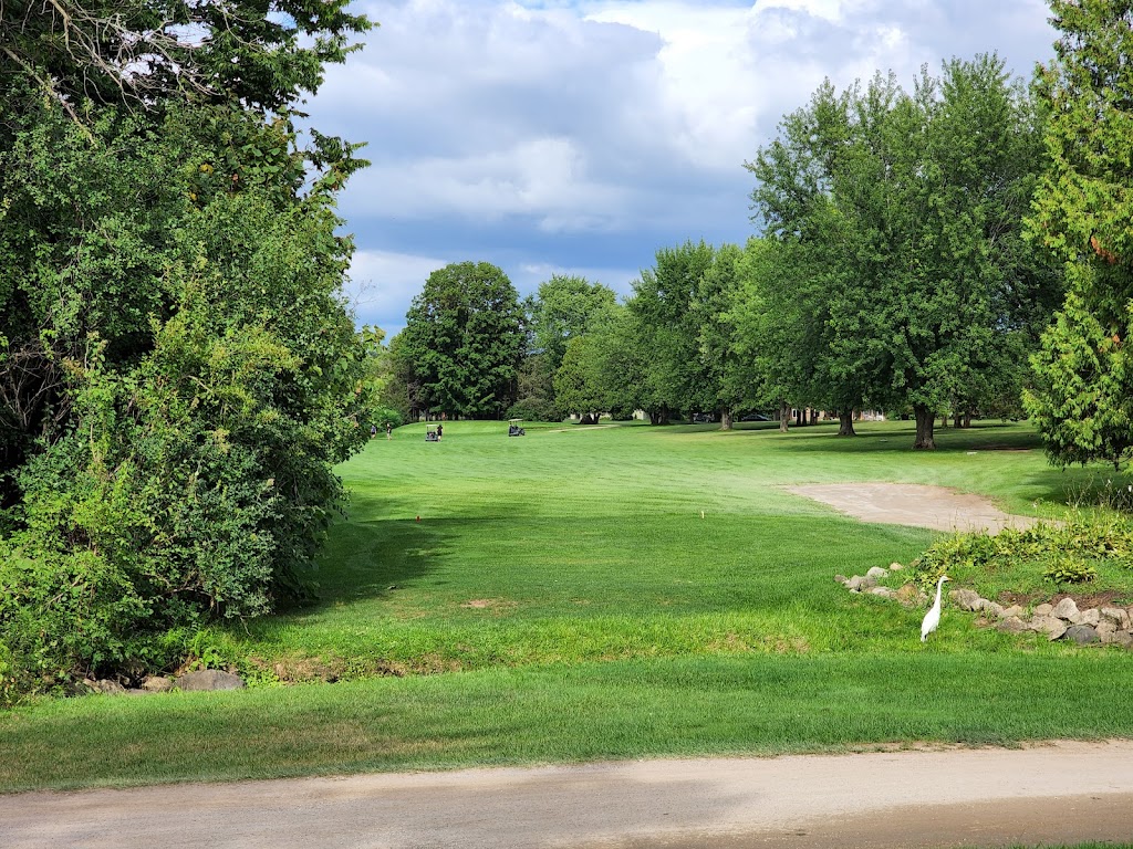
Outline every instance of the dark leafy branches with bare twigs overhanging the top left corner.
<svg viewBox="0 0 1133 849">
<path fill-rule="evenodd" d="M 346 0 L 17 0 L 0 7 L 0 79 L 24 77 L 77 117 L 97 103 L 238 102 L 278 112 L 322 83 L 369 22 Z M 186 33 L 193 37 L 186 37 Z M 0 84 L 2 85 L 2 84 Z"/>
</svg>

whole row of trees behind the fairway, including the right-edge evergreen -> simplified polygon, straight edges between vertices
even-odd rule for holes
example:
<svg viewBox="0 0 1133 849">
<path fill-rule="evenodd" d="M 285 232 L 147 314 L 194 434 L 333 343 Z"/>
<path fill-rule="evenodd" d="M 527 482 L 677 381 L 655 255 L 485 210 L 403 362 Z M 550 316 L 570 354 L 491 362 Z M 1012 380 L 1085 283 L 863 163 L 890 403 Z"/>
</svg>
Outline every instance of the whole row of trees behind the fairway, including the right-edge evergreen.
<svg viewBox="0 0 1133 849">
<path fill-rule="evenodd" d="M 391 349 L 402 406 L 583 421 L 640 410 L 654 423 L 709 412 L 724 428 L 738 411 L 785 428 L 809 409 L 843 435 L 878 410 L 914 418 L 914 447 L 931 448 L 937 417 L 1016 417 L 1025 400 L 1055 462 L 1119 468 L 1133 453 L 1133 12 L 1051 8 L 1057 60 L 1032 86 L 995 55 L 922 70 L 911 91 L 884 74 L 824 83 L 747 163 L 761 235 L 663 248 L 623 302 L 555 276 L 516 320 L 506 283 L 506 327 L 492 333 L 511 341 L 485 332 L 474 354 L 426 286 Z M 450 301 L 476 315 L 458 291 Z M 469 384 L 477 358 L 492 370 L 476 398 L 443 388 Z"/>
</svg>

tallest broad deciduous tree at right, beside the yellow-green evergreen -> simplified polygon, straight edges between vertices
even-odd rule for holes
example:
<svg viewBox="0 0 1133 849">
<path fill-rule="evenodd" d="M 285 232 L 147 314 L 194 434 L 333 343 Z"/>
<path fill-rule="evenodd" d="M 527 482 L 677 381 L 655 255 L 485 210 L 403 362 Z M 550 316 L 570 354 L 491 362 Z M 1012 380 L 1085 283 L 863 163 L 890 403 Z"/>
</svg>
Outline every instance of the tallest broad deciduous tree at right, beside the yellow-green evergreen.
<svg viewBox="0 0 1133 849">
<path fill-rule="evenodd" d="M 892 75 L 838 94 L 829 84 L 749 165 L 769 235 L 795 243 L 810 369 L 840 409 L 913 408 L 914 447 L 980 376 L 1021 350 L 1057 295 L 1057 275 L 1021 238 L 1040 162 L 1026 91 L 995 57 Z"/>
</svg>

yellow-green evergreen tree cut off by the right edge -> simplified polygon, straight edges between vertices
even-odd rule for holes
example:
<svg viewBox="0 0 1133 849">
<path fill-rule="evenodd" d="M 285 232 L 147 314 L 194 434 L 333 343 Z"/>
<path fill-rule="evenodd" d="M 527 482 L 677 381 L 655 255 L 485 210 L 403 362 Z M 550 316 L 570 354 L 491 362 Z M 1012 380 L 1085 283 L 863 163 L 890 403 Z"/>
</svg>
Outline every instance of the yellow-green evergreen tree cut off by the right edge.
<svg viewBox="0 0 1133 849">
<path fill-rule="evenodd" d="M 1049 166 L 1030 232 L 1070 292 L 1026 406 L 1060 465 L 1133 455 L 1133 5 L 1053 0 L 1057 59 L 1039 76 Z"/>
</svg>

